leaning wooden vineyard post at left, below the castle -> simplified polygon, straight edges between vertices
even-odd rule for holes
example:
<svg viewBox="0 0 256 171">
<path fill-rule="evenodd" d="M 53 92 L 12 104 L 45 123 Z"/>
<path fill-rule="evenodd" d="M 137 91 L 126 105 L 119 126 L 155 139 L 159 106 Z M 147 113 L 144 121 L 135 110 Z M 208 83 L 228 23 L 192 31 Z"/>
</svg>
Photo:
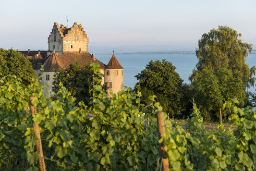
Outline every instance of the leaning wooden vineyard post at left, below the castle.
<svg viewBox="0 0 256 171">
<path fill-rule="evenodd" d="M 31 104 L 32 100 L 34 100 L 34 96 L 29 96 L 29 102 L 30 102 L 30 109 L 31 114 L 36 115 L 36 108 Z M 44 164 L 44 154 L 42 149 L 42 143 L 41 143 L 41 136 L 39 131 L 39 125 L 38 123 L 34 123 L 34 134 L 36 137 L 38 137 L 38 142 L 36 142 L 36 150 L 38 150 L 39 154 L 39 165 L 40 165 L 40 171 L 45 171 L 45 164 Z"/>
</svg>

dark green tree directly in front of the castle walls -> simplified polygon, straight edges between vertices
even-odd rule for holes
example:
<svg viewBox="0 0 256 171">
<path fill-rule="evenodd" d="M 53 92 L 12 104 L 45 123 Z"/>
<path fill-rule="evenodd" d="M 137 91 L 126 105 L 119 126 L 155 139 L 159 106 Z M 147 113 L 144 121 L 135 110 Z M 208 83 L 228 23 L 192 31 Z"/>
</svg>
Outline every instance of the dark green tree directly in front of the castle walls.
<svg viewBox="0 0 256 171">
<path fill-rule="evenodd" d="M 93 71 L 90 70 L 90 64 L 81 66 L 80 63 L 71 63 L 69 68 L 59 68 L 55 71 L 53 81 L 54 89 L 57 92 L 61 82 L 63 86 L 71 92 L 71 95 L 76 97 L 77 102 L 83 101 L 88 105 L 92 96 L 89 92 L 92 76 Z M 105 85 L 103 88 L 104 90 L 107 89 Z"/>
</svg>

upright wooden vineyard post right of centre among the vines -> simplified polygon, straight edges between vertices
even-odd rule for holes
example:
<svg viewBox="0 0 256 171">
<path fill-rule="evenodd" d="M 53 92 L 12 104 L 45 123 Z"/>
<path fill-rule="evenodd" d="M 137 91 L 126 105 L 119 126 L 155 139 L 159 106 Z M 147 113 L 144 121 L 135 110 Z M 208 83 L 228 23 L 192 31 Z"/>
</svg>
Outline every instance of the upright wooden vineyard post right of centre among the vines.
<svg viewBox="0 0 256 171">
<path fill-rule="evenodd" d="M 159 139 L 161 137 L 164 137 L 165 141 L 165 128 L 164 128 L 164 113 L 162 111 L 157 112 L 156 114 L 157 118 L 157 127 L 159 131 Z M 160 150 L 161 150 L 161 156 L 162 157 L 162 170 L 163 171 L 169 171 L 169 161 L 168 161 L 168 156 L 167 156 L 167 146 L 164 144 L 164 141 L 160 144 Z"/>
</svg>

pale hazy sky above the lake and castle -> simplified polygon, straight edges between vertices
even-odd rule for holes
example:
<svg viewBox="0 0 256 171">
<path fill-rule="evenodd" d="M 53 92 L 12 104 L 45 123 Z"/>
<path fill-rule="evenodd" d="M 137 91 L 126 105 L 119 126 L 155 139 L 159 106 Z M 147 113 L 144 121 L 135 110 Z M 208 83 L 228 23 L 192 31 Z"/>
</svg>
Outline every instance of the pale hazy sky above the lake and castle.
<svg viewBox="0 0 256 171">
<path fill-rule="evenodd" d="M 256 1 L 4 1 L 0 47 L 47 50 L 54 22 L 81 23 L 91 46 L 170 45 L 194 50 L 219 25 L 256 48 Z"/>
</svg>

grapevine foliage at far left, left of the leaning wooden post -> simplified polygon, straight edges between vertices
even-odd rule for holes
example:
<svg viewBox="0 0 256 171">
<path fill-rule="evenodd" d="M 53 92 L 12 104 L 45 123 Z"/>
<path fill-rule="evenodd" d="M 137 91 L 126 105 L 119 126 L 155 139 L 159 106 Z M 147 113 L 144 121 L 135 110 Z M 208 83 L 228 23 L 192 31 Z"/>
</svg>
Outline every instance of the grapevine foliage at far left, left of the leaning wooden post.
<svg viewBox="0 0 256 171">
<path fill-rule="evenodd" d="M 33 125 L 32 118 L 29 117 L 31 114 L 26 110 L 29 107 L 28 93 L 38 89 L 39 85 L 35 82 L 25 88 L 22 83 L 23 80 L 16 76 L 6 76 L 0 80 L 1 170 L 24 169 L 26 156 L 31 163 L 34 163 L 37 157 L 37 152 L 28 152 L 25 146 L 27 143 L 31 146 L 36 142 L 36 139 L 30 141 L 26 135 L 31 132 Z"/>
</svg>

